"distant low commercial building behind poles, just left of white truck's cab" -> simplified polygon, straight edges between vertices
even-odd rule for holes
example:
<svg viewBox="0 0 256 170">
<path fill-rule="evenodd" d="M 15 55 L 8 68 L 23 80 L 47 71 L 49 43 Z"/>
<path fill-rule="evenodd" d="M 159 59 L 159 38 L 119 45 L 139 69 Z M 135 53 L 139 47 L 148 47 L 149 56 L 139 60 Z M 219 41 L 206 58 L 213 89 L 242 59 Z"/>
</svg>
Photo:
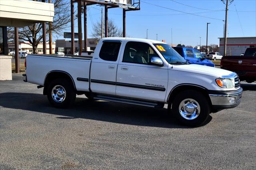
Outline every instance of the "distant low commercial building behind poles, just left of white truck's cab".
<svg viewBox="0 0 256 170">
<path fill-rule="evenodd" d="M 99 39 L 97 38 L 88 38 L 87 39 L 87 49 L 84 49 L 84 40 L 82 40 L 82 51 L 90 51 L 96 48 Z M 75 41 L 75 51 L 78 50 L 78 41 Z M 65 54 L 71 54 L 71 40 L 56 40 L 55 52 L 64 52 Z"/>
</svg>

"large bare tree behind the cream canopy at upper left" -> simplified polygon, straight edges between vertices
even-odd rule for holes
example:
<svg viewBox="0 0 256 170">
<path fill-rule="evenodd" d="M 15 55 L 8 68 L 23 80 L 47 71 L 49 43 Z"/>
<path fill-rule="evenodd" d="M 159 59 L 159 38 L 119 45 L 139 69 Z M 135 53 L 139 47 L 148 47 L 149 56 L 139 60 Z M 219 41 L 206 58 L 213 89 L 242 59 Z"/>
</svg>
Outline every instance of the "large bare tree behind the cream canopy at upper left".
<svg viewBox="0 0 256 170">
<path fill-rule="evenodd" d="M 35 0 L 40 1 L 40 0 Z M 45 2 L 48 2 L 46 0 Z M 53 34 L 61 35 L 62 30 L 70 28 L 70 0 L 52 0 L 54 4 L 54 18 L 51 31 Z M 31 26 L 19 28 L 19 39 L 29 42 L 33 52 L 37 52 L 37 46 L 42 42 L 42 23 L 34 23 Z M 49 33 L 49 26 L 46 24 L 46 34 Z M 8 28 L 8 42 L 14 42 L 14 28 Z"/>
</svg>

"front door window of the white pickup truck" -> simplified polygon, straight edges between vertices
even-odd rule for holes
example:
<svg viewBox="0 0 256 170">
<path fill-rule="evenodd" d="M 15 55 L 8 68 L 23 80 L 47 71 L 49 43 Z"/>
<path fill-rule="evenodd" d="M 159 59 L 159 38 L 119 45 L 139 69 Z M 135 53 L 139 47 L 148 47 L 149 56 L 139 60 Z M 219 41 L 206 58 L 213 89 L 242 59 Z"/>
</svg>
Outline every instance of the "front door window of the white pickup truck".
<svg viewBox="0 0 256 170">
<path fill-rule="evenodd" d="M 158 56 L 147 43 L 128 42 L 124 49 L 125 63 L 149 64 L 152 57 Z"/>
</svg>

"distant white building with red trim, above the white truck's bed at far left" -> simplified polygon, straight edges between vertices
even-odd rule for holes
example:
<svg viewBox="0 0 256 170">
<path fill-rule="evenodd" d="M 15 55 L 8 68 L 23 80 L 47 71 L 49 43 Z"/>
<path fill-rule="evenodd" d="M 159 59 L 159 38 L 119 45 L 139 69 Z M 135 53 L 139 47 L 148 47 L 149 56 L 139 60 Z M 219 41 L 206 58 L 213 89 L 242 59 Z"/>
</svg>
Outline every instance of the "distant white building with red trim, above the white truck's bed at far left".
<svg viewBox="0 0 256 170">
<path fill-rule="evenodd" d="M 8 49 L 9 49 L 9 52 L 14 51 L 14 49 L 15 49 L 14 43 L 9 43 Z M 28 53 L 32 53 L 33 48 L 30 43 L 21 42 L 21 43 L 19 43 L 19 51 L 27 51 Z M 52 43 L 52 51 L 55 51 L 55 43 Z M 38 44 L 37 53 L 43 54 L 43 43 Z M 46 54 L 50 54 L 49 43 L 46 43 Z"/>
</svg>

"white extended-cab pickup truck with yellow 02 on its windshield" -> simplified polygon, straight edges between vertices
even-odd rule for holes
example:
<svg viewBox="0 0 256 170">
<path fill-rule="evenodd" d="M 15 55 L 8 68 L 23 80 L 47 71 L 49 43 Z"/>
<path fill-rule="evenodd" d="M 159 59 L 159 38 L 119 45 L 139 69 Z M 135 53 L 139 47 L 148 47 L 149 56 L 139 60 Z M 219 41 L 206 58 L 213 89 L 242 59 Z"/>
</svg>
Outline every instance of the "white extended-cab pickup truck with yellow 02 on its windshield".
<svg viewBox="0 0 256 170">
<path fill-rule="evenodd" d="M 148 107 L 164 107 L 185 125 L 236 107 L 242 88 L 236 73 L 189 64 L 170 45 L 145 39 L 103 38 L 93 57 L 30 54 L 23 80 L 44 87 L 58 108 L 77 95 Z"/>
</svg>

